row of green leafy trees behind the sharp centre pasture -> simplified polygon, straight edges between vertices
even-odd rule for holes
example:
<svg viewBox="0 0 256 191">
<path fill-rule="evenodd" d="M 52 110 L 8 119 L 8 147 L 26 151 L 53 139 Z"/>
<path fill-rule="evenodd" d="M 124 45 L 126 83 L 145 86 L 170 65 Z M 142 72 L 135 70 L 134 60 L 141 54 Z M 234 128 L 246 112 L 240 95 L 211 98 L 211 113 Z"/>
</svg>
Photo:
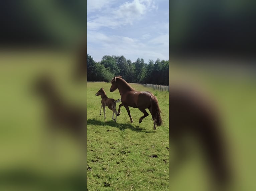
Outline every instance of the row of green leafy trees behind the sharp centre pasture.
<svg viewBox="0 0 256 191">
<path fill-rule="evenodd" d="M 96 62 L 87 54 L 87 81 L 110 82 L 114 76 L 122 76 L 129 83 L 169 85 L 169 60 L 145 63 L 138 58 L 132 63 L 124 56 L 105 55 Z"/>
</svg>

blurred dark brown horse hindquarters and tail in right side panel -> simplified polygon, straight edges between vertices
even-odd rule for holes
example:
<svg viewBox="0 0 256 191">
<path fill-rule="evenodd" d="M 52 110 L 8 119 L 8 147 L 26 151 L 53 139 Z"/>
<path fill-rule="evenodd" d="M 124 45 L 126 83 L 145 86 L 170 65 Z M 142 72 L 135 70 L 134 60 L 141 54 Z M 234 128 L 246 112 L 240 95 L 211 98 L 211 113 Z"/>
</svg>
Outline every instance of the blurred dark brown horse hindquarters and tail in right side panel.
<svg viewBox="0 0 256 191">
<path fill-rule="evenodd" d="M 194 137 L 206 157 L 217 190 L 231 180 L 231 168 L 227 155 L 227 142 L 222 132 L 219 114 L 211 101 L 192 88 L 170 86 L 170 142 L 175 159 L 170 172 L 175 173 L 187 157 L 184 137 Z"/>
</svg>

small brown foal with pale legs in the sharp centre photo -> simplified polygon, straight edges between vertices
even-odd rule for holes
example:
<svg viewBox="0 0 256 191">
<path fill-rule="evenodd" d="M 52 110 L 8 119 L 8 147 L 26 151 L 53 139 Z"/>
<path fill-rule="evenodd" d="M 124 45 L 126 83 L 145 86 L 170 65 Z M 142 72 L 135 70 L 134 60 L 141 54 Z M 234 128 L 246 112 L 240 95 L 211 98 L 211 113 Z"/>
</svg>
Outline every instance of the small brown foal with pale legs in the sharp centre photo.
<svg viewBox="0 0 256 191">
<path fill-rule="evenodd" d="M 116 121 L 116 119 L 114 119 L 114 113 L 116 114 L 116 118 L 117 118 L 116 103 L 120 102 L 121 99 L 115 100 L 113 98 L 108 98 L 106 95 L 106 92 L 104 91 L 104 88 L 101 88 L 95 95 L 96 96 L 101 95 L 101 104 L 102 104 L 101 109 L 103 107 L 104 119 L 106 119 L 105 107 L 107 106 L 110 110 L 113 111 L 112 119 Z M 100 110 L 100 115 L 101 115 L 101 110 Z"/>
</svg>

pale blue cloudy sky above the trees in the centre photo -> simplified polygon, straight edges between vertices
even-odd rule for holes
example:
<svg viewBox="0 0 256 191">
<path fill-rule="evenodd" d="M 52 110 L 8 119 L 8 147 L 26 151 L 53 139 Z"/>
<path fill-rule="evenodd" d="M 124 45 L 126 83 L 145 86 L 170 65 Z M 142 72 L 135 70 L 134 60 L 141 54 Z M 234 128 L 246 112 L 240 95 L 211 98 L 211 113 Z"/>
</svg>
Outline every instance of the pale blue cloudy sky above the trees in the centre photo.
<svg viewBox="0 0 256 191">
<path fill-rule="evenodd" d="M 169 0 L 88 0 L 87 54 L 169 60 Z"/>
</svg>

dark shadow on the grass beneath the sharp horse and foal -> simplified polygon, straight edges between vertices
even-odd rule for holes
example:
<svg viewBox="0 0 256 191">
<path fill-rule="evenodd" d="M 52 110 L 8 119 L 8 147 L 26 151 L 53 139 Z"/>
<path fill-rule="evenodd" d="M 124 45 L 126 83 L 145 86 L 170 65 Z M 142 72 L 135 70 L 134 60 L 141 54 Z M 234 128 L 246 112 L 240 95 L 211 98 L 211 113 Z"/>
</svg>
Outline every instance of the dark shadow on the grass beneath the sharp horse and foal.
<svg viewBox="0 0 256 191">
<path fill-rule="evenodd" d="M 120 130 L 125 130 L 125 129 L 131 129 L 133 131 L 137 131 L 137 132 L 141 132 L 142 130 L 146 130 L 144 128 L 140 128 L 138 125 L 135 126 L 135 125 L 132 125 L 130 123 L 116 123 L 115 121 L 99 121 L 99 120 L 96 120 L 96 119 L 88 119 L 87 120 L 87 124 L 90 124 L 90 125 L 99 125 L 99 126 L 112 126 L 112 127 L 117 127 L 119 128 Z M 152 131 L 143 131 L 143 132 L 146 132 L 146 133 L 154 133 L 155 131 L 152 130 Z"/>
</svg>

